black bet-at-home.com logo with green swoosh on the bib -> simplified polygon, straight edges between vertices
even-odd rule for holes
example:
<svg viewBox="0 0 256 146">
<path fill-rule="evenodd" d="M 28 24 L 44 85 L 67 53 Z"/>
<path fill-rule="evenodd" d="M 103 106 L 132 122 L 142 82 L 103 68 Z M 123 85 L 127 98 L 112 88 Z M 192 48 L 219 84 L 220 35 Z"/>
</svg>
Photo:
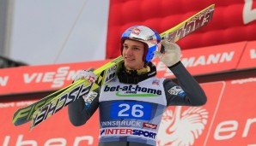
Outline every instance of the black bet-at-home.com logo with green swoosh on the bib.
<svg viewBox="0 0 256 146">
<path fill-rule="evenodd" d="M 116 91 L 116 96 L 160 96 L 161 90 L 155 90 L 146 87 L 140 87 L 139 85 L 124 85 L 124 86 L 108 86 L 106 85 L 104 91 Z"/>
</svg>

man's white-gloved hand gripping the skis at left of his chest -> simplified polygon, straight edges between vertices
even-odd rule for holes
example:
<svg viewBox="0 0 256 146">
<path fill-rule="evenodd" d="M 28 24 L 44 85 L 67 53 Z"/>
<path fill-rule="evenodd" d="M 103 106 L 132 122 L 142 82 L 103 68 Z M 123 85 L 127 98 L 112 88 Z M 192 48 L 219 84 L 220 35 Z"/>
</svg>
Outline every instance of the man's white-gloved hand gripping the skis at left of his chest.
<svg viewBox="0 0 256 146">
<path fill-rule="evenodd" d="M 78 79 L 86 79 L 91 83 L 95 82 L 97 79 L 97 76 L 92 71 L 94 71 L 93 68 L 90 68 L 87 71 L 85 70 L 79 71 L 74 79 L 74 82 L 76 82 Z"/>
</svg>

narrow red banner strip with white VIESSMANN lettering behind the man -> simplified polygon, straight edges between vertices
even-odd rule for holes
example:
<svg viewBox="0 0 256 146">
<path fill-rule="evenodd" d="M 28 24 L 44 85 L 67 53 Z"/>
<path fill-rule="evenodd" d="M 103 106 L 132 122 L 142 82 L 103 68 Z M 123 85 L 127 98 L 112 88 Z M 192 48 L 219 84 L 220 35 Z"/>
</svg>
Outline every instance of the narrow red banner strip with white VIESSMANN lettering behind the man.
<svg viewBox="0 0 256 146">
<path fill-rule="evenodd" d="M 70 85 L 79 70 L 101 67 L 107 61 L 1 69 L 0 96 L 56 91 Z M 181 61 L 192 75 L 255 68 L 256 41 L 183 50 Z M 153 62 L 157 67 L 158 77 L 174 78 L 173 73 L 162 61 L 155 59 Z"/>
</svg>

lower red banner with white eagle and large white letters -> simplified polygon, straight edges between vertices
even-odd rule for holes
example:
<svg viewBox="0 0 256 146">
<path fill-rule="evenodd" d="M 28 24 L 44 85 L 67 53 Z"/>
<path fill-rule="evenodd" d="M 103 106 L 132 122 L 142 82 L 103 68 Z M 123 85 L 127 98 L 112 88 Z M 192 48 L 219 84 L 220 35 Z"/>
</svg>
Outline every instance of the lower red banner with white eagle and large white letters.
<svg viewBox="0 0 256 146">
<path fill-rule="evenodd" d="M 256 145 L 255 86 L 256 76 L 202 84 L 208 102 L 202 107 L 167 108 L 157 137 L 158 146 Z M 98 111 L 84 126 L 70 124 L 67 108 L 32 131 L 30 123 L 14 126 L 11 121 L 15 110 L 31 102 L 34 101 L 0 103 L 0 145 L 97 146 Z"/>
</svg>

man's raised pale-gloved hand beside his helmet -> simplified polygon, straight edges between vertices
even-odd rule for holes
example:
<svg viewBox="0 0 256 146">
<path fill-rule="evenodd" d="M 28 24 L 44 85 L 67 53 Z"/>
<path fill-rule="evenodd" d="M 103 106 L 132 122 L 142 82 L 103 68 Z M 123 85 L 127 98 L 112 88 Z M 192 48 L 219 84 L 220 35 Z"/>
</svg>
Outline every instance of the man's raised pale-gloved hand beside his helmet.
<svg viewBox="0 0 256 146">
<path fill-rule="evenodd" d="M 162 54 L 159 51 L 155 51 L 154 54 L 168 67 L 173 66 L 180 61 L 180 46 L 178 44 L 169 43 L 168 41 L 162 41 L 162 45 L 165 48 L 165 53 Z"/>
</svg>

